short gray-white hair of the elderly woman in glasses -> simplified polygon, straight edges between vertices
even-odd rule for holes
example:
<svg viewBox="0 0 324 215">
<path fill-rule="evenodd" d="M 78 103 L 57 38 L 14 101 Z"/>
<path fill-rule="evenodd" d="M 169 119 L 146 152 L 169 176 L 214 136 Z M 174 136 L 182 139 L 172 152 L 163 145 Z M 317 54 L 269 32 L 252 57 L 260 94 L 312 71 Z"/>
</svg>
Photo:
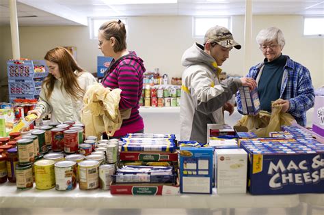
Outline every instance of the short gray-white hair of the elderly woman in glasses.
<svg viewBox="0 0 324 215">
<path fill-rule="evenodd" d="M 256 35 L 256 43 L 262 46 L 265 42 L 277 41 L 280 48 L 284 48 L 286 40 L 284 40 L 284 33 L 278 27 L 268 27 L 267 29 L 262 29 L 258 35 Z"/>
</svg>

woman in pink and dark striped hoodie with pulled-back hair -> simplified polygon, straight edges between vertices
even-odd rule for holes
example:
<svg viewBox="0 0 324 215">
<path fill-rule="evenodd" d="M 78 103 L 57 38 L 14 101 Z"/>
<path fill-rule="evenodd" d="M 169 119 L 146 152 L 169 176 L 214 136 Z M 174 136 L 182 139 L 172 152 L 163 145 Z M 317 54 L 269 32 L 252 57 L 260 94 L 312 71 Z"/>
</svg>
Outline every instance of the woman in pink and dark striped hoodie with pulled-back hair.
<svg viewBox="0 0 324 215">
<path fill-rule="evenodd" d="M 124 23 L 117 20 L 100 26 L 98 48 L 105 57 L 113 58 L 101 83 L 104 87 L 122 89 L 119 109 L 131 109 L 131 116 L 122 121 L 122 127 L 115 132 L 113 138 L 123 137 L 127 133 L 144 132 L 144 122 L 138 109 L 146 69 L 143 60 L 135 52 L 127 51 L 126 46 Z"/>
</svg>

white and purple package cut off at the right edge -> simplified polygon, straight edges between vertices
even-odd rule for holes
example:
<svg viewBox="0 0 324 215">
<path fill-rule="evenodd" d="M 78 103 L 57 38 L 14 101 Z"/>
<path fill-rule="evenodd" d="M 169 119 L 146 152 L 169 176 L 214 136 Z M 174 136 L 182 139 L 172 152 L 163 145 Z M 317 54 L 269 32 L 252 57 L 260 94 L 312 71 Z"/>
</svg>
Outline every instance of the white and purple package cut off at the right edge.
<svg viewBox="0 0 324 215">
<path fill-rule="evenodd" d="M 315 91 L 313 132 L 324 137 L 324 87 Z"/>
</svg>

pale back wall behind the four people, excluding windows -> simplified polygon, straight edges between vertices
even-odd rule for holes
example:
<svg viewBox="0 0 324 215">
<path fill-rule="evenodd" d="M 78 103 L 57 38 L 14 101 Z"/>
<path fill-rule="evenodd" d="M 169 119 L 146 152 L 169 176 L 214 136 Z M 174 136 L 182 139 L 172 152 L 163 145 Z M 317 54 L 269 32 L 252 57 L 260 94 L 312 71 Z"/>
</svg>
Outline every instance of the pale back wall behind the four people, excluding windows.
<svg viewBox="0 0 324 215">
<path fill-rule="evenodd" d="M 306 66 L 312 75 L 314 87 L 324 85 L 324 38 L 303 37 L 302 16 L 254 16 L 251 66 L 262 61 L 255 37 L 260 29 L 276 26 L 286 38 L 283 54 Z M 192 38 L 191 16 L 141 16 L 127 18 L 129 25 L 129 50 L 144 59 L 147 70 L 159 68 L 169 76 L 181 76 L 184 68 L 180 59 L 183 52 L 202 39 Z M 10 28 L 0 27 L 0 78 L 6 76 L 5 61 L 12 57 Z M 237 42 L 244 42 L 244 16 L 232 17 L 232 33 Z M 88 27 L 20 27 L 21 57 L 42 59 L 55 46 L 76 46 L 79 64 L 90 72 L 96 72 L 96 56 L 102 55 L 97 41 L 90 40 Z M 244 47 L 243 47 L 244 48 Z M 232 50 L 222 68 L 229 74 L 245 75 L 243 48 Z M 1 100 L 1 98 L 0 98 Z"/>
</svg>

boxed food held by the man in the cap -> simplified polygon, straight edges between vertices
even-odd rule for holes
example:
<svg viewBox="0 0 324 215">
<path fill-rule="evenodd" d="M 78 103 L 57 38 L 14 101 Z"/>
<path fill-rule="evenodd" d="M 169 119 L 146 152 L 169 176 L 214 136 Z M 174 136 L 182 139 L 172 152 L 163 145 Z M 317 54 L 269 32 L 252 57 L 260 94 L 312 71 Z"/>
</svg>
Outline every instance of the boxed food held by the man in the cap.
<svg viewBox="0 0 324 215">
<path fill-rule="evenodd" d="M 247 86 L 239 87 L 239 94 L 241 95 L 243 114 L 256 115 L 260 111 L 258 89 L 250 91 Z"/>
</svg>

